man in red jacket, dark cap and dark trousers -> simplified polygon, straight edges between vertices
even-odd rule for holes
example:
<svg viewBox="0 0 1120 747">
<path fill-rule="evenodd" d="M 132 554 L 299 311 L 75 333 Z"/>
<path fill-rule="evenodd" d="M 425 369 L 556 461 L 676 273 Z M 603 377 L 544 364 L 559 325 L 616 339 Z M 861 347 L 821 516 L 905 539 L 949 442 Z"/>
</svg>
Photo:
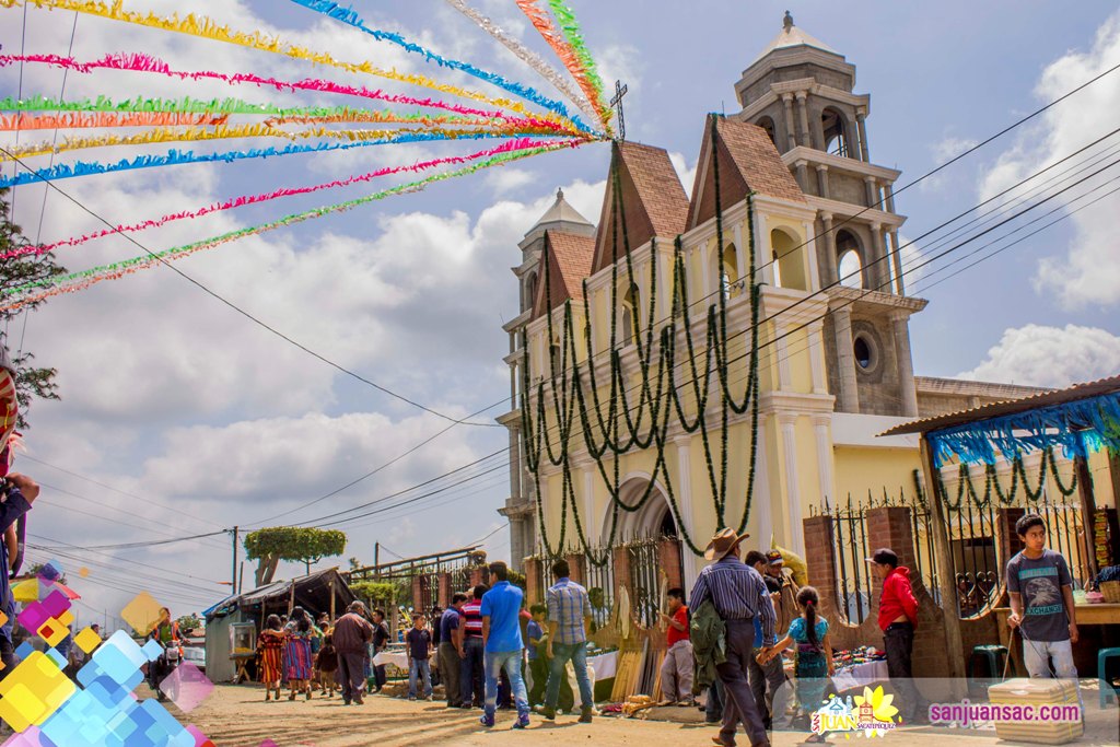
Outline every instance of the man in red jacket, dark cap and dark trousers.
<svg viewBox="0 0 1120 747">
<path fill-rule="evenodd" d="M 925 701 L 914 685 L 911 669 L 914 631 L 917 629 L 917 600 L 911 587 L 909 569 L 898 564 L 898 555 L 889 548 L 879 548 L 867 558 L 867 562 L 883 580 L 879 629 L 883 631 L 883 647 L 887 652 L 890 683 L 897 693 L 895 703 L 904 721 L 924 720 Z"/>
</svg>

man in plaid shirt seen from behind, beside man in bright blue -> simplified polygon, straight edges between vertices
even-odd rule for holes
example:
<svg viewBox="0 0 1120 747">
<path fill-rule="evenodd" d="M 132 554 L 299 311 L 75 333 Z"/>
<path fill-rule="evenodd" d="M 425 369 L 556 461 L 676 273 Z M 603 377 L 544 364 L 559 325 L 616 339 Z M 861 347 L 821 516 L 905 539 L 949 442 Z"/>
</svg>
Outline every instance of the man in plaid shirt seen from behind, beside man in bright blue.
<svg viewBox="0 0 1120 747">
<path fill-rule="evenodd" d="M 541 716 L 554 719 L 557 701 L 560 699 L 560 681 L 568 678 L 566 665 L 571 662 L 579 683 L 580 723 L 591 722 L 595 695 L 591 681 L 587 676 L 587 627 L 591 618 L 591 601 L 587 589 L 576 583 L 568 575 L 571 568 L 561 558 L 552 563 L 552 575 L 559 580 L 548 594 L 549 605 L 549 684 L 544 693 Z"/>
</svg>

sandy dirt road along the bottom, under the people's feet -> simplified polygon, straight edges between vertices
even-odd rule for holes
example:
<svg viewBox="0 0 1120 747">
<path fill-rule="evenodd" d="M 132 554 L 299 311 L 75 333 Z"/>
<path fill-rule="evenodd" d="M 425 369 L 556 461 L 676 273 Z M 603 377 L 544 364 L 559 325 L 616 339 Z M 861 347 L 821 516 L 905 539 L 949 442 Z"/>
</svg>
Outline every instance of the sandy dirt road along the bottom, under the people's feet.
<svg viewBox="0 0 1120 747">
<path fill-rule="evenodd" d="M 500 712 L 497 726 L 484 729 L 478 723 L 480 711 L 449 710 L 440 702 L 409 702 L 396 698 L 373 695 L 364 706 L 343 706 L 334 699 L 310 702 L 264 702 L 258 688 L 218 685 L 211 697 L 189 717 L 172 712 L 184 722 L 195 723 L 218 747 L 259 747 L 272 739 L 280 747 L 307 745 L 311 747 L 396 747 L 398 745 L 486 745 L 487 747 L 709 747 L 712 727 L 702 723 L 671 723 L 665 721 L 597 718 L 591 725 L 577 723 L 575 716 L 559 716 L 556 722 L 534 716 L 526 731 L 515 731 L 513 716 Z M 682 709 L 683 710 L 683 709 Z M 1098 717 L 1104 716 L 1096 713 Z M 1116 713 L 1112 715 L 1114 722 Z M 1094 719 L 1096 720 L 1096 719 Z M 1109 736 L 1105 736 L 1110 732 Z M 803 734 L 774 735 L 775 747 L 800 745 Z M 833 745 L 856 745 L 862 737 L 846 740 L 831 739 Z M 896 745 L 954 745 L 955 747 L 991 747 L 1009 745 L 996 739 L 993 731 L 969 729 L 905 728 L 888 735 L 885 743 Z M 740 745 L 747 745 L 745 735 Z M 1116 745 L 1116 729 L 1094 728 L 1074 745 Z M 887 746 L 889 747 L 889 745 Z"/>
</svg>

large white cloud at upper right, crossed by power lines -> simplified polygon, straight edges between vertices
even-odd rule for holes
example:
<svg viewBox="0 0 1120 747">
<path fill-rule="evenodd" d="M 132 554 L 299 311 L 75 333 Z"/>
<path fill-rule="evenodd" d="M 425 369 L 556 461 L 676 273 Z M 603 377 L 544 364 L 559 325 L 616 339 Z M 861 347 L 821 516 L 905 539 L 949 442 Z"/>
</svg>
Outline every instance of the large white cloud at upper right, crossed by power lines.
<svg viewBox="0 0 1120 747">
<path fill-rule="evenodd" d="M 1101 26 L 1091 49 L 1070 52 L 1051 64 L 1043 72 L 1035 93 L 1040 101 L 1052 101 L 1117 64 L 1120 64 L 1120 11 Z M 1116 111 L 1120 111 L 1120 78 L 1116 75 L 1096 81 L 1051 109 L 1042 115 L 1038 125 L 1028 127 L 1000 156 L 981 183 L 981 198 L 998 194 L 1105 134 L 1113 122 L 1103 113 Z M 1114 140 L 1109 142 L 1114 144 Z M 1071 205 L 1074 197 L 1102 181 L 1103 178 L 1098 177 L 1062 199 Z M 1028 183 L 1025 189 L 1034 186 L 1036 183 Z M 1072 206 L 1076 208 L 1082 204 Z M 1074 237 L 1066 251 L 1039 262 L 1035 276 L 1038 292 L 1054 295 L 1071 309 L 1120 302 L 1116 207 L 1113 196 L 1072 216 Z"/>
</svg>

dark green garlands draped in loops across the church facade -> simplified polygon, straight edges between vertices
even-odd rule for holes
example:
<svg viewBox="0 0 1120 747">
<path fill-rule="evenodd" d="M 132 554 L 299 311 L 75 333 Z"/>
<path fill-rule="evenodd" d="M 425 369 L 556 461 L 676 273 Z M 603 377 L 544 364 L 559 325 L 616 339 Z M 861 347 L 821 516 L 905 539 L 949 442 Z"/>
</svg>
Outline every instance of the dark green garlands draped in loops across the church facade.
<svg viewBox="0 0 1120 747">
<path fill-rule="evenodd" d="M 721 268 L 724 252 L 724 223 L 722 204 L 720 196 L 720 176 L 718 159 L 717 125 L 712 122 L 711 128 L 711 152 L 715 176 L 716 194 L 716 240 L 718 265 Z M 533 475 L 536 488 L 536 521 L 541 542 L 544 551 L 550 557 L 556 557 L 569 548 L 568 542 L 568 513 L 571 512 L 571 524 L 577 535 L 577 547 L 581 548 L 588 560 L 597 566 L 609 561 L 610 549 L 618 539 L 620 512 L 635 513 L 641 511 L 657 488 L 657 480 L 663 480 L 665 498 L 669 510 L 676 524 L 678 532 L 690 551 L 702 554 L 703 548 L 699 545 L 694 538 L 690 535 L 685 527 L 684 516 L 676 499 L 676 492 L 673 488 L 673 478 L 670 475 L 669 464 L 665 456 L 665 446 L 669 431 L 673 424 L 679 427 L 684 433 L 700 432 L 700 441 L 703 446 L 704 464 L 708 473 L 708 482 L 711 487 L 712 505 L 720 525 L 724 525 L 727 507 L 727 471 L 729 464 L 729 441 L 728 429 L 730 415 L 750 413 L 750 446 L 747 459 L 749 471 L 747 477 L 744 512 L 738 522 L 738 532 L 746 529 L 750 517 L 750 506 L 754 497 L 754 486 L 756 476 L 756 461 L 758 452 L 758 399 L 759 399 L 759 372 L 758 372 L 758 321 L 762 292 L 760 283 L 755 282 L 755 231 L 754 231 L 754 195 L 747 196 L 748 216 L 748 249 L 749 249 L 749 304 L 750 304 L 750 346 L 749 370 L 745 389 L 738 395 L 731 390 L 729 377 L 728 334 L 727 334 L 727 289 L 722 287 L 720 273 L 720 287 L 716 291 L 718 300 L 710 304 L 707 309 L 707 329 L 704 344 L 700 348 L 693 339 L 692 321 L 689 315 L 688 289 L 685 282 L 685 267 L 683 259 L 683 244 L 681 236 L 678 236 L 673 244 L 673 280 L 672 299 L 668 306 L 670 316 L 668 323 L 656 335 L 656 304 L 657 304 L 657 244 L 656 239 L 651 242 L 650 261 L 650 292 L 647 307 L 645 309 L 645 324 L 643 328 L 642 316 L 637 308 L 632 308 L 632 320 L 634 328 L 631 333 L 631 342 L 635 347 L 637 358 L 637 375 L 640 381 L 636 386 L 631 386 L 627 381 L 626 370 L 623 365 L 623 357 L 618 349 L 617 309 L 618 309 L 618 286 L 619 286 L 619 256 L 618 243 L 622 241 L 622 262 L 627 291 L 636 286 L 634 279 L 634 264 L 629 244 L 629 232 L 626 225 L 625 213 L 622 209 L 622 180 L 617 162 L 617 152 L 612 168 L 612 214 L 614 220 L 610 225 L 612 232 L 612 271 L 610 271 L 610 333 L 609 333 L 609 377 L 605 382 L 608 389 L 606 402 L 600 395 L 604 383 L 599 381 L 595 364 L 594 335 L 591 330 L 590 300 L 587 291 L 587 281 L 584 280 L 584 328 L 581 337 L 587 347 L 588 357 L 580 362 L 576 345 L 577 330 L 572 317 L 571 300 L 563 305 L 562 323 L 560 325 L 560 349 L 556 351 L 554 343 L 558 340 L 556 329 L 556 315 L 552 307 L 551 278 L 548 248 L 545 246 L 542 261 L 544 262 L 544 311 L 547 317 L 545 335 L 549 347 L 548 381 L 540 381 L 535 386 L 535 396 L 530 398 L 523 394 L 521 398 L 522 437 L 525 445 L 525 460 L 529 470 Z M 619 235 L 620 230 L 620 235 Z M 636 305 L 635 305 L 636 306 Z M 681 319 L 678 323 L 676 310 L 680 309 Z M 683 334 L 684 347 L 678 344 L 679 333 Z M 526 340 L 528 342 L 528 340 Z M 655 344 L 656 343 L 656 344 Z M 525 346 L 525 356 L 522 362 L 522 392 L 533 391 L 530 382 L 530 351 Z M 654 361 L 654 355 L 656 360 Z M 679 362 L 678 360 L 681 358 Z M 700 372 L 698 360 L 702 358 L 703 372 Z M 688 365 L 690 376 L 687 381 L 678 383 L 676 366 Z M 715 374 L 718 381 L 718 411 L 711 412 L 712 391 L 711 376 Z M 685 412 L 684 395 L 681 390 L 689 387 L 694 399 L 696 414 L 689 419 Z M 627 396 L 628 391 L 637 389 L 636 402 L 632 402 Z M 547 390 L 547 391 L 545 391 Z M 547 408 L 545 402 L 551 403 Z M 535 412 L 534 412 L 535 410 Z M 606 410 L 606 412 L 604 412 Z M 633 413 L 633 414 L 632 414 Z M 675 414 L 675 420 L 673 419 Z M 549 424 L 549 417 L 552 417 L 553 424 Z M 720 440 L 719 455 L 716 456 L 712 439 L 709 435 L 709 418 L 719 418 Z M 578 418 L 578 421 L 577 421 Z M 578 430 L 577 430 L 578 426 Z M 550 438 L 550 433 L 556 433 L 556 442 Z M 607 536 L 604 552 L 597 555 L 594 552 L 585 529 L 584 517 L 576 497 L 575 482 L 572 478 L 572 450 L 573 445 L 579 443 L 587 456 L 594 461 L 596 470 L 603 485 L 606 486 L 610 497 L 609 522 L 610 531 Z M 653 448 L 655 461 L 651 479 L 642 495 L 636 496 L 633 502 L 627 502 L 622 495 L 620 485 L 620 461 L 622 456 L 632 450 L 645 450 Z M 549 464 L 560 467 L 561 470 L 561 496 L 560 496 L 560 531 L 553 543 L 549 535 L 544 517 L 544 506 L 541 493 L 541 459 L 545 458 Z M 610 461 L 609 469 L 607 461 Z"/>
</svg>

